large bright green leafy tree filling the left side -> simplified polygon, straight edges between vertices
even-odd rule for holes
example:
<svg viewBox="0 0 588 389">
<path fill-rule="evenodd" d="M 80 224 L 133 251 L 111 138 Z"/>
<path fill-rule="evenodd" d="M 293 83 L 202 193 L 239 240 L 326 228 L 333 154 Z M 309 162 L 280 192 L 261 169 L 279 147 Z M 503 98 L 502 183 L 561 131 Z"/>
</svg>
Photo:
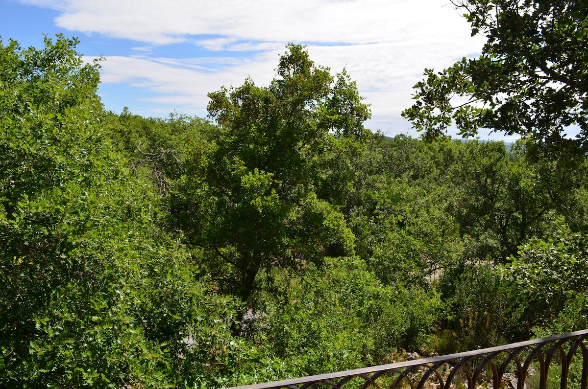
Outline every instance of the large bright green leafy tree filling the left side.
<svg viewBox="0 0 588 389">
<path fill-rule="evenodd" d="M 176 387 L 213 369 L 235 305 L 153 223 L 76 43 L 0 46 L 0 386 Z"/>
</svg>

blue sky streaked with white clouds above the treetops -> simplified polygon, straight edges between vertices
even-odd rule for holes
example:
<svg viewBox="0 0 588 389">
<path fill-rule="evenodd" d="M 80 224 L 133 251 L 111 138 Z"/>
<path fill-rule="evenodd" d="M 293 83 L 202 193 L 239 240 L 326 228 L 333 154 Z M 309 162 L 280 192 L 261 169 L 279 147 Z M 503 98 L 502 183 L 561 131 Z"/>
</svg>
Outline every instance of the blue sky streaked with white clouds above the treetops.
<svg viewBox="0 0 588 389">
<path fill-rule="evenodd" d="M 106 109 L 160 117 L 204 117 L 206 93 L 247 76 L 268 85 L 286 43 L 302 43 L 319 65 L 347 69 L 371 104 L 366 126 L 390 136 L 419 135 L 400 112 L 423 69 L 483 45 L 449 0 L 0 0 L 4 41 L 41 47 L 58 32 L 106 59 Z"/>
</svg>

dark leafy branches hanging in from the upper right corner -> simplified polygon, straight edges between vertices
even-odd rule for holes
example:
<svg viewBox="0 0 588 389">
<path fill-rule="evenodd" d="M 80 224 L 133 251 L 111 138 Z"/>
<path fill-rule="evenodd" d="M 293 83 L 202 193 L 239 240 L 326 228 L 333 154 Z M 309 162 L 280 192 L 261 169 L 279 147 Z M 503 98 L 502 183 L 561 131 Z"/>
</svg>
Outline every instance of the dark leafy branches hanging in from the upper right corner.
<svg viewBox="0 0 588 389">
<path fill-rule="evenodd" d="M 425 138 L 455 120 L 460 135 L 480 129 L 524 135 L 546 145 L 588 150 L 588 2 L 454 0 L 487 41 L 479 58 L 425 69 L 416 102 L 403 112 Z M 579 126 L 576 139 L 563 139 Z"/>
</svg>

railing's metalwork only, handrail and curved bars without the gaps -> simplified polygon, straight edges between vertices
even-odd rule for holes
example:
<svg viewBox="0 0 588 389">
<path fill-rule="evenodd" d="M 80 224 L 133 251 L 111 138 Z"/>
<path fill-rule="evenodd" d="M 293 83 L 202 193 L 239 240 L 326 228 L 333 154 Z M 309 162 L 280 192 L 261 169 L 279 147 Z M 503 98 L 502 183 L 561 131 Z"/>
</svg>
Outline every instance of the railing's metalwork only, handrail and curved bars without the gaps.
<svg viewBox="0 0 588 389">
<path fill-rule="evenodd" d="M 570 344 L 570 342 L 572 343 Z M 564 351 L 564 348 L 567 348 L 567 346 L 565 346 L 566 344 L 570 344 L 567 353 Z M 542 351 L 547 348 L 546 346 L 549 347 L 549 351 L 547 351 L 547 354 L 544 354 Z M 531 349 L 530 351 L 529 348 Z M 582 352 L 579 353 L 578 349 Z M 365 380 L 365 382 L 360 384 L 360 387 L 363 389 L 369 389 L 370 387 L 382 389 L 383 385 L 379 379 L 387 374 L 398 375 L 397 377 L 390 377 L 391 380 L 393 379 L 390 389 L 396 389 L 399 387 L 404 379 L 406 379 L 410 385 L 410 389 L 423 389 L 426 381 L 432 378 L 431 376 L 433 374 L 444 389 L 450 389 L 452 381 L 460 372 L 467 376 L 468 389 L 474 389 L 477 380 L 487 365 L 492 368 L 493 387 L 499 388 L 500 381 L 502 380 L 503 374 L 505 374 L 507 366 L 513 361 L 517 366 L 517 389 L 524 388 L 524 381 L 526 380 L 530 366 L 534 363 L 533 361 L 536 361 L 536 363 L 539 364 L 539 389 L 546 389 L 547 373 L 550 365 L 554 363 L 553 358 L 557 354 L 557 351 L 559 351 L 559 355 L 562 357 L 561 389 L 566 389 L 572 358 L 576 356 L 577 358 L 580 358 L 580 355 L 582 357 L 582 378 L 580 389 L 588 389 L 588 330 L 506 344 L 505 346 L 490 347 L 483 350 L 466 351 L 465 353 L 456 353 L 447 356 L 403 361 L 355 370 L 339 371 L 336 373 L 313 375 L 310 377 L 292 378 L 290 380 L 275 381 L 271 383 L 245 385 L 239 387 L 239 389 L 308 389 L 313 385 L 319 385 L 321 383 L 329 385 L 333 389 L 342 389 L 343 385 L 347 385 L 347 387 L 351 388 L 353 385 L 350 385 L 350 381 L 356 377 Z M 495 360 L 502 353 L 506 353 L 507 357 L 500 365 L 500 368 L 497 369 Z M 482 358 L 482 361 L 479 361 L 479 363 L 475 365 L 476 368 L 473 370 L 472 375 L 472 370 L 469 366 L 472 365 L 473 361 L 479 360 L 478 358 Z M 522 360 L 524 360 L 524 363 L 521 363 Z M 440 368 L 445 364 L 450 366 L 450 372 L 444 381 L 444 374 L 440 371 Z M 416 385 L 415 388 L 415 383 L 411 381 L 409 374 L 412 375 L 412 373 L 415 373 L 417 368 L 425 368 L 426 371 L 420 376 L 418 385 Z"/>
</svg>

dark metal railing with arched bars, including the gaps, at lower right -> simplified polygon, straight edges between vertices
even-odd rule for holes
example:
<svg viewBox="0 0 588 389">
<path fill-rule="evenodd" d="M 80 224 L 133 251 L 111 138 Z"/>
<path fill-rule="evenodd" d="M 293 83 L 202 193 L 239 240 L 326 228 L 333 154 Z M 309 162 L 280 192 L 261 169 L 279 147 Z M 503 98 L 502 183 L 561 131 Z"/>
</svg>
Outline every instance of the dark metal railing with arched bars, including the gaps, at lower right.
<svg viewBox="0 0 588 389">
<path fill-rule="evenodd" d="M 239 389 L 587 389 L 588 330 Z M 236 389 L 236 388 L 230 388 Z"/>
</svg>

